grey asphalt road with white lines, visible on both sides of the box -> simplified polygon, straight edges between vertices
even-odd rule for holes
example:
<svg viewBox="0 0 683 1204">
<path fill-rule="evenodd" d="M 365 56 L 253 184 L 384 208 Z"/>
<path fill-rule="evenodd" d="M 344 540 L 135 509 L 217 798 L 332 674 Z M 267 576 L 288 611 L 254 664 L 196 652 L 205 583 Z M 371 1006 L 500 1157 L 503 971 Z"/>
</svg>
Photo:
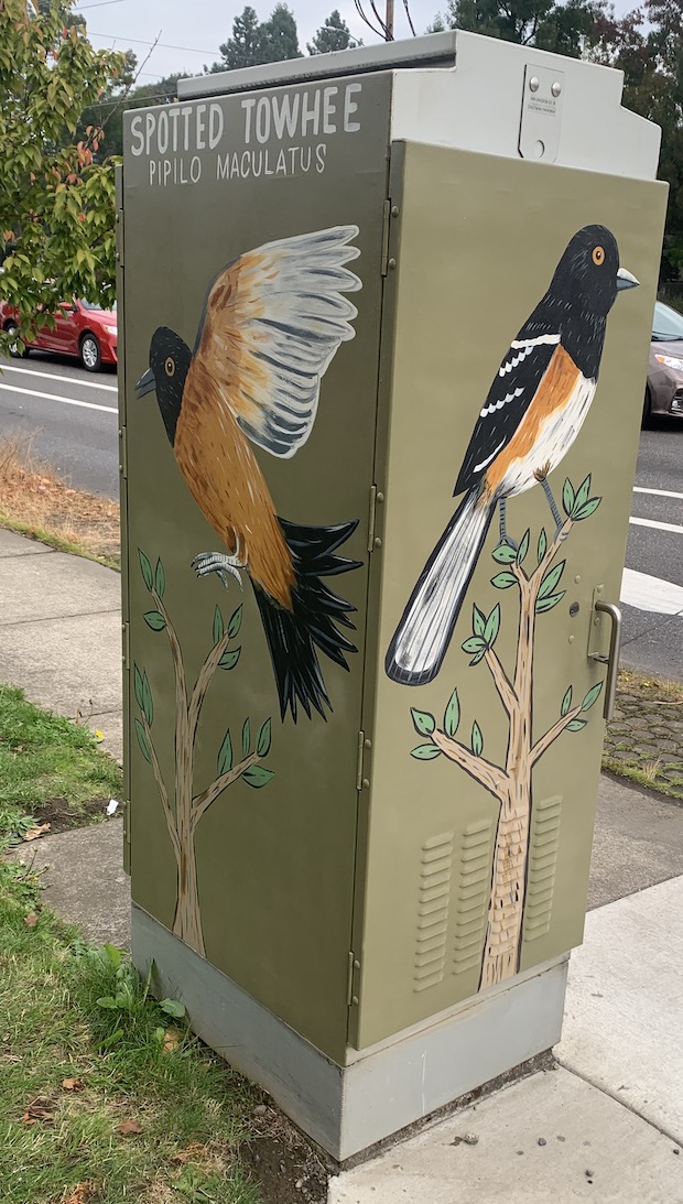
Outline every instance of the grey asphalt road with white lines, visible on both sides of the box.
<svg viewBox="0 0 683 1204">
<path fill-rule="evenodd" d="M 0 431 L 37 431 L 37 458 L 117 497 L 116 371 L 90 374 L 36 352 L 2 366 Z M 683 421 L 641 433 L 622 603 L 622 663 L 683 680 Z"/>
</svg>

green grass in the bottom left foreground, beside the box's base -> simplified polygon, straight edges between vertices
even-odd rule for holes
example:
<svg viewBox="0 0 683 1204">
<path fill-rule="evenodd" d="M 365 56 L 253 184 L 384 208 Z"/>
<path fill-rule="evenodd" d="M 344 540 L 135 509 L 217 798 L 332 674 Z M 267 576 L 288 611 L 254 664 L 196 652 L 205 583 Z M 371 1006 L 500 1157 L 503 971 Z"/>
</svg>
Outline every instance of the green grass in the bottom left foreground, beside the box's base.
<svg viewBox="0 0 683 1204">
<path fill-rule="evenodd" d="M 251 1088 L 119 951 L 87 949 L 48 913 L 30 928 L 27 905 L 0 875 L 2 1204 L 257 1204 L 237 1159 Z"/>
</svg>

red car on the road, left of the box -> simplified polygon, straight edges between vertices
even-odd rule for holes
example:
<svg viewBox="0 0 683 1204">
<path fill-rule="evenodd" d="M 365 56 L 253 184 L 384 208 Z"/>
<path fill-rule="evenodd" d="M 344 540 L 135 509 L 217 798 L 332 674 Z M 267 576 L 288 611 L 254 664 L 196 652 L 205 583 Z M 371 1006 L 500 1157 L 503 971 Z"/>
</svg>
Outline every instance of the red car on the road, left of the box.
<svg viewBox="0 0 683 1204">
<path fill-rule="evenodd" d="M 34 348 L 60 352 L 61 355 L 75 355 L 88 372 L 98 372 L 102 364 L 117 362 L 116 301 L 113 309 L 100 309 L 77 297 L 60 301 L 55 321 L 54 330 L 43 326 L 31 343 L 17 340 L 10 348 L 10 355 L 18 359 Z M 6 301 L 0 301 L 0 325 L 2 330 L 17 330 L 17 311 Z"/>
</svg>

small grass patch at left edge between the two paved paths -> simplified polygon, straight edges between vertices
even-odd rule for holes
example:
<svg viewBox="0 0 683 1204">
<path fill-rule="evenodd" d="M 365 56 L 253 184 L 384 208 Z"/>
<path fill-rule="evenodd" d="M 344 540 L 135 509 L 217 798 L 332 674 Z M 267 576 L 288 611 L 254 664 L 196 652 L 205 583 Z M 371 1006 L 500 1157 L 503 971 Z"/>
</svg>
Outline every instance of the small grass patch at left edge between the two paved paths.
<svg viewBox="0 0 683 1204">
<path fill-rule="evenodd" d="M 65 798 L 75 822 L 93 798 L 120 798 L 118 765 L 94 734 L 27 702 L 23 691 L 0 685 L 0 849 L 2 831 L 20 833 L 27 813 Z M 25 826 L 25 825 L 24 825 Z"/>
</svg>

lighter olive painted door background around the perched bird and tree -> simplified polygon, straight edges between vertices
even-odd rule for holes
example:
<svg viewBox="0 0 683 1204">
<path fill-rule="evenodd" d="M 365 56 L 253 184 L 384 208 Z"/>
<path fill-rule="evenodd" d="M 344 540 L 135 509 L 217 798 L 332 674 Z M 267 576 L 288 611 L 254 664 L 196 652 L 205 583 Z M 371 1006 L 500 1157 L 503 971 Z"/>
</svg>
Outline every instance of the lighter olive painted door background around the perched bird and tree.
<svg viewBox="0 0 683 1204">
<path fill-rule="evenodd" d="M 540 301 L 571 236 L 602 223 L 617 237 L 620 260 L 641 282 L 618 295 L 607 323 L 597 393 L 570 453 L 550 477 L 561 498 L 569 477 L 578 488 L 593 474 L 591 494 L 602 497 L 595 514 L 575 525 L 557 561 L 567 557 L 563 602 L 537 616 L 534 738 L 560 714 L 573 685 L 581 700 L 605 677 L 587 660 L 595 586 L 619 600 L 630 492 L 642 413 L 643 379 L 666 205 L 664 185 L 576 172 L 522 160 L 407 144 L 394 148 L 390 194 L 399 214 L 391 223 L 390 273 L 383 325 L 376 480 L 384 492 L 378 529 L 381 565 L 372 566 L 370 614 L 378 613 L 369 656 L 376 685 L 366 696 L 364 727 L 372 737 L 371 789 L 364 792 L 359 848 L 354 948 L 363 968 L 353 1009 L 352 1040 L 365 1047 L 477 991 L 479 962 L 458 955 L 461 870 L 478 858 L 481 899 L 490 890 L 490 851 L 497 804 L 483 787 L 440 756 L 417 761 L 410 751 L 420 738 L 410 708 L 434 713 L 442 725 L 454 686 L 461 704 L 458 738 L 469 742 L 476 719 L 484 755 L 501 765 L 507 720 L 484 663 L 470 667 L 460 644 L 472 633 L 472 602 L 488 614 L 501 606 L 496 651 L 512 671 L 518 594 L 499 591 L 490 578 L 497 519 L 491 524 L 443 666 L 431 684 L 407 687 L 384 674 L 384 655 L 412 586 L 457 501 L 453 485 L 491 378 L 517 331 Z M 508 503 L 508 531 L 520 539 L 531 527 L 535 549 L 541 526 L 554 525 L 542 489 Z M 532 555 L 532 553 L 530 554 Z M 375 557 L 373 557 L 375 559 Z M 555 561 L 555 563 L 557 563 Z M 534 560 L 535 565 L 535 560 Z M 570 618 L 569 608 L 579 612 Z M 603 635 L 607 647 L 608 631 Z M 369 669 L 369 679 L 372 669 Z M 532 842 L 529 887 L 546 873 L 534 861 L 550 857 L 553 895 L 547 923 L 535 939 L 525 928 L 522 969 L 561 954 L 582 939 L 595 796 L 600 772 L 602 698 L 588 726 L 565 732 L 534 771 Z M 559 825 L 559 826 L 558 826 Z M 488 861 L 487 861 L 488 857 Z M 436 898 L 425 885 L 437 861 L 449 883 Z M 420 878 L 420 875 L 423 875 Z M 449 875 L 449 877 L 448 877 Z M 420 881 L 423 891 L 420 893 Z M 470 881 L 470 879 L 467 879 Z M 442 973 L 423 987 L 418 975 L 420 933 L 438 911 L 435 946 Z M 473 928 L 467 929 L 472 932 Z M 481 921 L 481 939 L 485 931 Z M 459 972 L 457 967 L 464 967 Z"/>
</svg>

